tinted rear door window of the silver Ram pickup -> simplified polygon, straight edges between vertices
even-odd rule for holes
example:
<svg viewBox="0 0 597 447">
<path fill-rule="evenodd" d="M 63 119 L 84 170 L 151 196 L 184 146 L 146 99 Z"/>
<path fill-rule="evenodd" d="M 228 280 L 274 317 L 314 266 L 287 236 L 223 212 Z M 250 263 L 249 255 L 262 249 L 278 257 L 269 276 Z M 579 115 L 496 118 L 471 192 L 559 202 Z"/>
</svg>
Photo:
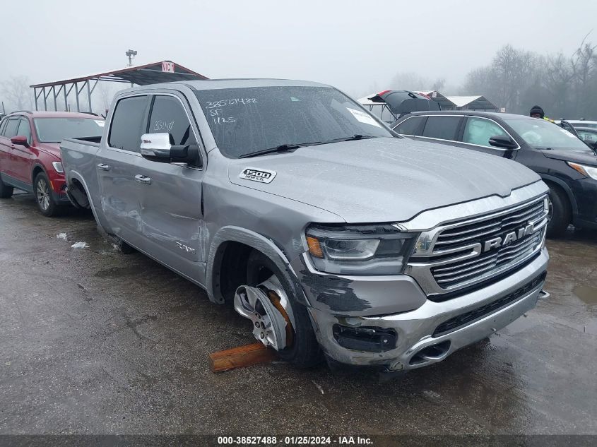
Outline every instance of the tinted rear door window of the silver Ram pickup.
<svg viewBox="0 0 597 447">
<path fill-rule="evenodd" d="M 108 144 L 111 148 L 141 152 L 143 119 L 147 108 L 146 96 L 125 97 L 114 109 Z"/>
</svg>

